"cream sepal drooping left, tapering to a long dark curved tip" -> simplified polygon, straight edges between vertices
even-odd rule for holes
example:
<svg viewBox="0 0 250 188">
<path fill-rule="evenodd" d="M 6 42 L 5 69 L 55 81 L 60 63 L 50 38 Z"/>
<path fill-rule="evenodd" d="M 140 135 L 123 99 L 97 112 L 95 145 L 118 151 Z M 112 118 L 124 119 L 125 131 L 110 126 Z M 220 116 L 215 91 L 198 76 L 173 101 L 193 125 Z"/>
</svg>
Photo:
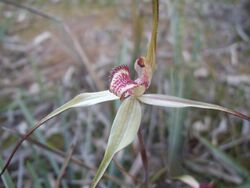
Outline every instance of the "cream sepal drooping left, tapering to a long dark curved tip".
<svg viewBox="0 0 250 188">
<path fill-rule="evenodd" d="M 100 91 L 100 92 L 93 92 L 93 93 L 82 93 L 62 105 L 61 107 L 55 109 L 53 112 L 45 116 L 42 120 L 40 120 L 33 128 L 31 128 L 22 138 L 21 140 L 17 143 L 15 148 L 13 149 L 10 157 L 8 158 L 3 170 L 0 173 L 0 176 L 4 173 L 6 168 L 9 166 L 9 163 L 11 159 L 13 158 L 14 154 L 16 153 L 17 149 L 20 147 L 22 142 L 26 140 L 37 128 L 39 128 L 42 124 L 44 124 L 46 121 L 49 119 L 57 116 L 58 114 L 73 108 L 73 107 L 85 107 L 85 106 L 90 106 L 94 104 L 98 104 L 101 102 L 105 101 L 111 101 L 111 100 L 116 100 L 119 99 L 117 96 L 114 94 L 110 93 L 108 90 L 105 91 Z"/>
</svg>

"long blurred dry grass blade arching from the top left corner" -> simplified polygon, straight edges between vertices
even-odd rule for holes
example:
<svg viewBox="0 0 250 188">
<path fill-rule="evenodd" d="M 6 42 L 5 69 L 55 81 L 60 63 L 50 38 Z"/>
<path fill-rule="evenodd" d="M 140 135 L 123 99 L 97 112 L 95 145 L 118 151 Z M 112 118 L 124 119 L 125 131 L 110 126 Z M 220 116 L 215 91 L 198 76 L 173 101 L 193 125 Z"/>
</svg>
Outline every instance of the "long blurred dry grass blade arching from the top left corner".
<svg viewBox="0 0 250 188">
<path fill-rule="evenodd" d="M 90 60 L 88 59 L 87 55 L 85 54 L 84 50 L 82 49 L 81 45 L 79 44 L 78 40 L 76 39 L 76 37 L 74 36 L 74 34 L 71 32 L 70 28 L 67 26 L 67 24 L 65 24 L 61 19 L 55 17 L 54 15 L 48 14 L 48 13 L 44 13 L 41 10 L 38 10 L 34 7 L 30 7 L 28 5 L 23 5 L 14 1 L 9 1 L 9 0 L 1 0 L 0 2 L 3 2 L 5 4 L 9 4 L 21 9 L 25 9 L 33 14 L 39 15 L 43 18 L 49 19 L 53 22 L 56 22 L 57 24 L 59 24 L 60 26 L 62 26 L 63 31 L 67 34 L 67 36 L 69 37 L 69 39 L 72 41 L 73 47 L 75 49 L 75 52 L 78 54 L 78 56 L 80 57 L 80 60 L 82 62 L 83 65 L 85 65 L 88 73 L 90 74 L 91 78 L 94 80 L 97 89 L 98 90 L 103 90 L 105 88 L 105 84 L 103 82 L 103 80 L 101 80 L 98 77 L 98 74 L 96 74 L 95 70 L 93 69 L 93 67 L 91 66 Z"/>
</svg>

